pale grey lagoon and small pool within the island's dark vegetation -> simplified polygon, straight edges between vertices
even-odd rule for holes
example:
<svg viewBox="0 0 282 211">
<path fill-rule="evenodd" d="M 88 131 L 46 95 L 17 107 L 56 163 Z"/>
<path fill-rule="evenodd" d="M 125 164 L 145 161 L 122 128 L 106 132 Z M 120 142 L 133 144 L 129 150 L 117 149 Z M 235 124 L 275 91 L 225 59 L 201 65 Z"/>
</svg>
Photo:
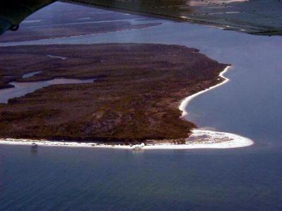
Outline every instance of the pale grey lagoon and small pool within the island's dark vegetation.
<svg viewBox="0 0 282 211">
<path fill-rule="evenodd" d="M 39 71 L 40 72 L 40 71 Z M 30 77 L 39 72 L 30 72 L 25 74 L 23 77 Z M 29 74 L 29 76 L 28 76 Z M 10 82 L 13 88 L 0 89 L 0 103 L 8 103 L 11 98 L 17 98 L 24 96 L 25 94 L 31 93 L 42 87 L 49 87 L 53 84 L 85 84 L 92 83 L 94 79 L 66 79 L 66 78 L 56 78 L 47 81 L 40 82 Z"/>
</svg>

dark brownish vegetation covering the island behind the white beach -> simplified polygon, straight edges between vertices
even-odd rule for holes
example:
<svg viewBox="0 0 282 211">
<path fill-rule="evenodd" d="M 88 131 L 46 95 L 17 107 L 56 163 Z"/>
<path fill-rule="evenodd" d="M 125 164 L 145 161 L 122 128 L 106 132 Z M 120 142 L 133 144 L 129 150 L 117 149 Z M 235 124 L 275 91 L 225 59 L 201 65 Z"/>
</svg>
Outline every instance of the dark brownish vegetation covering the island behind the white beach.
<svg viewBox="0 0 282 211">
<path fill-rule="evenodd" d="M 183 139 L 195 124 L 180 119 L 180 101 L 219 83 L 226 67 L 197 49 L 162 44 L 15 46 L 1 48 L 0 55 L 2 76 L 17 81 L 97 78 L 0 104 L 0 136 L 13 138 Z M 21 78 L 35 70 L 42 72 Z"/>
</svg>

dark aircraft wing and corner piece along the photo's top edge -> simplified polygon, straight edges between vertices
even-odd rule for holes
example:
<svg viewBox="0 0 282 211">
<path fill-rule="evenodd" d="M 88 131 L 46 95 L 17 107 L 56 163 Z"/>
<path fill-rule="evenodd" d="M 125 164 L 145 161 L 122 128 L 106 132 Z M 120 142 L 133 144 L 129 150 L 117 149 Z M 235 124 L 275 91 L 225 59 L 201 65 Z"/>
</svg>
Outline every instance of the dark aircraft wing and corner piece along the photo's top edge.
<svg viewBox="0 0 282 211">
<path fill-rule="evenodd" d="M 3 0 L 0 34 L 17 30 L 28 15 L 54 0 Z M 64 0 L 113 11 L 126 11 L 190 23 L 200 23 L 250 34 L 281 35 L 281 0 Z"/>
</svg>

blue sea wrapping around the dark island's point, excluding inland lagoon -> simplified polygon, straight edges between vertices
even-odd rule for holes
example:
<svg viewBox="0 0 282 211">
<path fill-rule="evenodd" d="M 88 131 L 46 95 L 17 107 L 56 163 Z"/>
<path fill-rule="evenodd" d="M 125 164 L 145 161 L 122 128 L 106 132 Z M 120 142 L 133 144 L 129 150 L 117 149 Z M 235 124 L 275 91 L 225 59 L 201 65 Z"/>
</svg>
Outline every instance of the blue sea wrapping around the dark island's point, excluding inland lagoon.
<svg viewBox="0 0 282 211">
<path fill-rule="evenodd" d="M 231 81 L 195 98 L 187 118 L 255 145 L 138 153 L 0 145 L 0 210 L 282 210 L 282 37 L 164 23 L 18 44 L 105 42 L 180 44 L 231 63 Z"/>
</svg>

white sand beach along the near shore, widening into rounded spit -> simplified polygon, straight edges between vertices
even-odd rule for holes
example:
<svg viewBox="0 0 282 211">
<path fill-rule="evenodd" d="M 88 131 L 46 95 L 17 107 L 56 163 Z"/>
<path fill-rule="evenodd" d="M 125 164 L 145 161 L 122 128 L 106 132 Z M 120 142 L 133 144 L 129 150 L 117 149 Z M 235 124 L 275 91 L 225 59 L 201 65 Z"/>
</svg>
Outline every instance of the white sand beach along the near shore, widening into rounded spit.
<svg viewBox="0 0 282 211">
<path fill-rule="evenodd" d="M 135 146 L 125 145 L 106 145 L 99 143 L 82 143 L 82 142 L 66 142 L 66 141 L 46 141 L 35 139 L 0 139 L 0 144 L 13 144 L 31 146 L 37 143 L 38 146 L 68 146 L 68 147 L 87 147 L 87 148 L 120 148 L 135 149 Z M 251 146 L 254 142 L 237 134 L 226 132 L 214 132 L 204 129 L 193 129 L 191 136 L 186 139 L 185 144 L 174 143 L 155 143 L 144 146 L 140 144 L 140 148 L 149 149 L 195 149 L 195 148 L 240 148 Z"/>
</svg>

